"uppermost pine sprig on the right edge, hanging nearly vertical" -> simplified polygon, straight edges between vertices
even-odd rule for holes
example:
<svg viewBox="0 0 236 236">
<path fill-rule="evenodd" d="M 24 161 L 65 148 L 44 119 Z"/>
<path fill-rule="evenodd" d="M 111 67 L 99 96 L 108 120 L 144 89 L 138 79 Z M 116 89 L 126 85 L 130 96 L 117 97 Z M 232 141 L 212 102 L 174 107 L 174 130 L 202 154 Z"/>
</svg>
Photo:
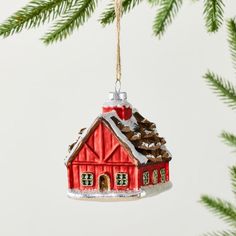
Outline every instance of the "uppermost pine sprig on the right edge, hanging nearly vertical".
<svg viewBox="0 0 236 236">
<path fill-rule="evenodd" d="M 231 56 L 233 59 L 234 68 L 236 70 L 236 20 L 230 19 L 227 21 L 228 42 Z"/>
</svg>

